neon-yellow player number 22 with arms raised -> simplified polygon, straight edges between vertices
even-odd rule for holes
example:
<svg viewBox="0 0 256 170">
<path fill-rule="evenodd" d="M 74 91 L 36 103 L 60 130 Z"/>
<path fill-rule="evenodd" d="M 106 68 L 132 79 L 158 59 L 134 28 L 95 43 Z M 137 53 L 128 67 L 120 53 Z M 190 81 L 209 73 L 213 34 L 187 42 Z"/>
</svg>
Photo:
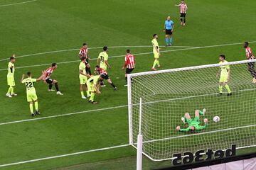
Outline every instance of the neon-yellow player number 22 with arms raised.
<svg viewBox="0 0 256 170">
<path fill-rule="evenodd" d="M 23 74 L 21 78 L 21 83 L 25 84 L 26 86 L 27 101 L 29 103 L 29 108 L 30 108 L 32 117 L 34 115 L 40 114 L 38 111 L 38 97 L 36 96 L 36 89 L 35 89 L 34 83 L 36 81 L 40 81 L 41 79 L 43 79 L 43 74 L 38 79 L 32 79 L 31 72 L 28 72 L 27 73 L 28 78 L 24 79 L 25 74 Z M 33 102 L 35 103 L 36 113 L 33 113 Z"/>
</svg>

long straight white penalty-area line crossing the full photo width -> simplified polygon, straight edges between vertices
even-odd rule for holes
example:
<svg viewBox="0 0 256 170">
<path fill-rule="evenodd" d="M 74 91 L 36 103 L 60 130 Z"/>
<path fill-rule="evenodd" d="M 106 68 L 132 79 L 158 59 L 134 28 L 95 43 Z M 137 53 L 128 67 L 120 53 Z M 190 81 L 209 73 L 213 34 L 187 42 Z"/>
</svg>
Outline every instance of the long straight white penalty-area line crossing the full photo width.
<svg viewBox="0 0 256 170">
<path fill-rule="evenodd" d="M 256 41 L 251 41 L 250 43 L 254 43 L 254 42 L 256 42 Z M 208 46 L 204 46 L 204 47 L 189 47 L 189 48 L 185 48 L 185 49 L 183 48 L 183 49 L 176 49 L 176 50 L 165 50 L 165 51 L 161 51 L 161 52 L 175 52 L 175 51 L 185 51 L 185 50 L 210 48 L 210 47 L 223 47 L 223 46 L 228 46 L 228 45 L 240 45 L 242 43 L 243 42 L 232 43 L 232 44 L 223 44 L 223 45 L 208 45 Z M 124 47 L 124 46 L 122 46 L 122 47 Z M 134 54 L 134 55 L 149 55 L 149 54 L 152 54 L 152 53 L 153 52 L 143 52 L 143 53 L 138 53 L 138 54 Z M 115 58 L 115 57 L 124 57 L 124 55 L 116 55 L 116 56 L 112 56 L 112 57 L 109 57 L 109 58 Z M 91 60 L 97 60 L 97 58 L 92 58 Z M 58 62 L 58 64 L 67 64 L 67 63 L 79 62 L 79 61 L 80 60 L 73 60 L 73 61 L 68 61 L 68 62 Z M 23 67 L 16 67 L 16 69 L 29 68 L 29 67 L 40 67 L 40 66 L 45 66 L 45 65 L 49 65 L 49 64 L 50 63 L 48 63 L 48 64 L 36 64 L 36 65 L 23 66 Z M 0 69 L 0 71 L 4 71 L 4 70 L 7 70 L 7 69 Z"/>
</svg>

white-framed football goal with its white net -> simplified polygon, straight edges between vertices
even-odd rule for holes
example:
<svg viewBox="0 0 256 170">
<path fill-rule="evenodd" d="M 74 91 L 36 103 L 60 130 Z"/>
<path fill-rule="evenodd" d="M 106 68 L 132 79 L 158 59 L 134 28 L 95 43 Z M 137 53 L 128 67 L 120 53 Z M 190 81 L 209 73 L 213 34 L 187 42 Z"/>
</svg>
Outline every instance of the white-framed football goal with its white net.
<svg viewBox="0 0 256 170">
<path fill-rule="evenodd" d="M 129 143 L 137 147 L 139 98 L 142 98 L 142 136 L 144 155 L 154 161 L 171 159 L 175 153 L 199 149 L 228 149 L 256 145 L 256 85 L 247 61 L 228 62 L 233 93 L 218 96 L 216 73 L 222 65 L 142 72 L 128 75 Z M 250 60 L 256 62 L 256 60 Z M 177 125 L 187 128 L 181 117 L 195 116 L 195 110 L 206 108 L 208 127 L 201 132 L 178 132 Z M 220 122 L 214 123 L 218 115 Z"/>
</svg>

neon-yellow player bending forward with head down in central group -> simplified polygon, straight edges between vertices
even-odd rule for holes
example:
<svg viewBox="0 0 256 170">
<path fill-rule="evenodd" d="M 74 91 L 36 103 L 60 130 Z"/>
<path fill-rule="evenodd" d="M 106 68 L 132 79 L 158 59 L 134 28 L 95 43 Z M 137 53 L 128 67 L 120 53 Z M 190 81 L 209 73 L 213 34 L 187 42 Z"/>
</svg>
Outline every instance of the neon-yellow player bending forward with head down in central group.
<svg viewBox="0 0 256 170">
<path fill-rule="evenodd" d="M 95 94 L 100 94 L 100 81 L 103 79 L 104 77 L 97 75 L 90 77 L 86 82 L 88 91 L 90 91 L 89 102 L 92 104 L 97 104 L 97 101 L 95 101 Z"/>
</svg>

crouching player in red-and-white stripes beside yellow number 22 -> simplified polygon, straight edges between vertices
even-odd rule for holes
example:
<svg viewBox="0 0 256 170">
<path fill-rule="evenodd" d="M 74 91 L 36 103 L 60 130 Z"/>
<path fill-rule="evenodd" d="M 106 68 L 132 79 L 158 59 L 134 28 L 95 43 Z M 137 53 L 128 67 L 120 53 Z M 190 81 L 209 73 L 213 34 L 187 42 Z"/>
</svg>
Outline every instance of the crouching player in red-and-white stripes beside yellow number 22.
<svg viewBox="0 0 256 170">
<path fill-rule="evenodd" d="M 56 89 L 56 91 L 57 91 L 57 95 L 63 95 L 63 94 L 60 93 L 60 91 L 59 91 L 59 88 L 58 88 L 58 81 L 55 80 L 55 79 L 50 79 L 51 74 L 53 74 L 53 71 L 54 71 L 55 69 L 57 69 L 57 67 L 58 67 L 58 66 L 57 66 L 57 63 L 53 63 L 52 66 L 46 70 L 46 73 L 45 73 L 45 75 L 44 75 L 44 81 L 49 84 L 49 89 L 48 89 L 48 91 L 54 91 L 54 90 L 52 89 L 53 84 L 54 84 L 55 89 Z"/>
</svg>

